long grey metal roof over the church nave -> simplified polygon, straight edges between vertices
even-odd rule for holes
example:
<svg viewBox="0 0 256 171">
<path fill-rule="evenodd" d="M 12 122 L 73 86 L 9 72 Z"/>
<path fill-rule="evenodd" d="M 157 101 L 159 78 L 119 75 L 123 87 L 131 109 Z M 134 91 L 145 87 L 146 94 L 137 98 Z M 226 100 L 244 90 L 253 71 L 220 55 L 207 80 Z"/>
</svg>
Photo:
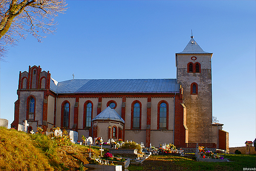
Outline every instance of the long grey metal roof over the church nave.
<svg viewBox="0 0 256 171">
<path fill-rule="evenodd" d="M 176 79 L 74 79 L 63 82 L 51 80 L 55 93 L 170 93 L 179 92 Z"/>
</svg>

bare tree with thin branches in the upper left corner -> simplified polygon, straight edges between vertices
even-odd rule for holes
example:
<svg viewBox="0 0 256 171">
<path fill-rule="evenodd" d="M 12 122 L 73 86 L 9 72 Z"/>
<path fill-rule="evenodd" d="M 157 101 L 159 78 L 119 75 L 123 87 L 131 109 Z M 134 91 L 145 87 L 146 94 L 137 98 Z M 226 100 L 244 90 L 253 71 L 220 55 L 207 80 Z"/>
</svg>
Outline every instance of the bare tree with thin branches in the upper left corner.
<svg viewBox="0 0 256 171">
<path fill-rule="evenodd" d="M 31 33 L 38 42 L 56 31 L 54 21 L 64 13 L 65 0 L 0 0 L 0 59 L 6 45 L 14 45 Z"/>
</svg>

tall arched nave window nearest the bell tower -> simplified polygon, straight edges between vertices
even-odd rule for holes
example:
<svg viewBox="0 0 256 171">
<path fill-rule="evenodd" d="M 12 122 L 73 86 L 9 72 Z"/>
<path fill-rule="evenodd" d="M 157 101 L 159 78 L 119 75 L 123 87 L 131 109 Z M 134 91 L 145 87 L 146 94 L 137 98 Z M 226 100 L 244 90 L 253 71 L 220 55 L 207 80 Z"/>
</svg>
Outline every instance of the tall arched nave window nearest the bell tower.
<svg viewBox="0 0 256 171">
<path fill-rule="evenodd" d="M 168 129 L 169 106 L 164 100 L 158 103 L 158 129 Z"/>
</svg>

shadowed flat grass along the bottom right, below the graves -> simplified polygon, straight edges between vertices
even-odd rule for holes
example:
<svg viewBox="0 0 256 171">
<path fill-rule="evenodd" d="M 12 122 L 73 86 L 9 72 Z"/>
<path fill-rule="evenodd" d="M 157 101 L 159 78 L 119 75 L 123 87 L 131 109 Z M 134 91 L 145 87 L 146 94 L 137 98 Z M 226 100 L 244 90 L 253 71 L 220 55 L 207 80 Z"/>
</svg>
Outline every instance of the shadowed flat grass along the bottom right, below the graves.
<svg viewBox="0 0 256 171">
<path fill-rule="evenodd" d="M 130 165 L 130 171 L 243 171 L 256 168 L 256 155 L 225 154 L 230 162 L 197 162 L 181 156 L 150 156 L 141 165 Z"/>
</svg>

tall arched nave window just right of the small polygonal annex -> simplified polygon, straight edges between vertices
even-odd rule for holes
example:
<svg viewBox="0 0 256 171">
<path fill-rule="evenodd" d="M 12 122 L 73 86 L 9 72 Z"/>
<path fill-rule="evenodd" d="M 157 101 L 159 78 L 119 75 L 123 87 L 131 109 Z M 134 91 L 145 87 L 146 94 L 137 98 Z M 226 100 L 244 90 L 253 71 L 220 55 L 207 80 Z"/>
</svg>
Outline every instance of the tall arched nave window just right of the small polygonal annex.
<svg viewBox="0 0 256 171">
<path fill-rule="evenodd" d="M 141 103 L 134 101 L 131 106 L 131 129 L 141 129 Z"/>
</svg>

